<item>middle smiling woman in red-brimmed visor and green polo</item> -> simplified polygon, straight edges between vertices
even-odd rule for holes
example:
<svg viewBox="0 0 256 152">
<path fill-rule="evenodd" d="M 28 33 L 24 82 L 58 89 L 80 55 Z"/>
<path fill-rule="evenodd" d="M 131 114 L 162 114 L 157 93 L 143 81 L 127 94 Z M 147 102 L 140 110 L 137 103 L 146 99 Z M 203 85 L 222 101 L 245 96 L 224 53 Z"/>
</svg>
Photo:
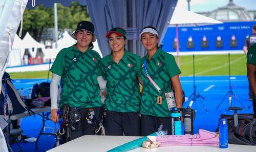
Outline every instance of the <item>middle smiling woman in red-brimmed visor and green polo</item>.
<svg viewBox="0 0 256 152">
<path fill-rule="evenodd" d="M 140 77 L 141 58 L 124 49 L 125 30 L 113 28 L 108 34 L 111 54 L 100 61 L 106 80 L 106 135 L 140 136 Z"/>
</svg>

